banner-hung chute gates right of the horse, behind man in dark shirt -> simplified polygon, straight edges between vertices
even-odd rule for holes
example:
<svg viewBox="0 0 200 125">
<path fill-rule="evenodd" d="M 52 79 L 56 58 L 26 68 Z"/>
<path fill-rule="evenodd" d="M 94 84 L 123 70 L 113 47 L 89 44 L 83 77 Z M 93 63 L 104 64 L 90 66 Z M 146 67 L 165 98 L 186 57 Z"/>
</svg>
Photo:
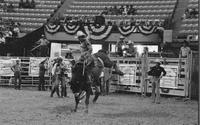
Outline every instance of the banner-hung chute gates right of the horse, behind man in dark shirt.
<svg viewBox="0 0 200 125">
<path fill-rule="evenodd" d="M 112 91 L 128 91 L 146 95 L 152 92 L 151 77 L 147 75 L 150 67 L 159 59 L 167 74 L 160 81 L 160 93 L 163 95 L 181 96 L 191 98 L 194 86 L 194 65 L 197 58 L 193 58 L 192 52 L 188 58 L 163 58 L 142 56 L 138 58 L 113 57 L 124 76 L 113 75 L 111 80 Z M 197 91 L 197 90 L 196 90 Z M 193 93 L 193 95 L 196 95 Z"/>
</svg>

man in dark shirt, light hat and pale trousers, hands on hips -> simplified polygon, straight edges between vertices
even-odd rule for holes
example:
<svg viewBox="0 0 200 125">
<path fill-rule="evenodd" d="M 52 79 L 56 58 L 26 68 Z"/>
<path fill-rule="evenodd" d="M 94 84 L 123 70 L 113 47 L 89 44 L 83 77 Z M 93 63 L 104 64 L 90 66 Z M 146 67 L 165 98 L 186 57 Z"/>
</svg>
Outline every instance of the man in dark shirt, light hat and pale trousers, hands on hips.
<svg viewBox="0 0 200 125">
<path fill-rule="evenodd" d="M 153 103 L 160 104 L 160 79 L 166 75 L 166 71 L 160 66 L 161 62 L 156 59 L 156 65 L 151 67 L 148 75 L 152 76 L 152 98 Z"/>
</svg>

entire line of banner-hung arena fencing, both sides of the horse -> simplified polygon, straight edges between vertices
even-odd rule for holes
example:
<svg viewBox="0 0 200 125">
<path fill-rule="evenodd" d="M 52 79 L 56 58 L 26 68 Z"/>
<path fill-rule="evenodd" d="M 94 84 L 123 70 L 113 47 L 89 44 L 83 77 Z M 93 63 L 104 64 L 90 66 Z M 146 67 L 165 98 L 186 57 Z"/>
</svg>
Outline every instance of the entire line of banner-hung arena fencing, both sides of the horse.
<svg viewBox="0 0 200 125">
<path fill-rule="evenodd" d="M 39 63 L 45 59 L 44 57 L 0 57 L 0 85 L 13 86 L 14 74 L 10 68 L 16 59 L 20 60 L 22 66 L 22 87 L 38 86 Z M 143 95 L 151 93 L 151 82 L 147 71 L 155 64 L 155 59 L 160 59 L 162 66 L 167 71 L 167 75 L 160 81 L 161 94 L 185 98 L 198 95 L 198 53 L 192 53 L 188 58 L 143 56 L 137 58 L 112 57 L 111 59 L 117 62 L 125 75 L 112 76 L 110 91 L 128 91 Z M 64 59 L 64 62 L 70 69 L 69 60 Z M 51 65 L 51 61 L 48 62 L 48 65 Z M 70 71 L 68 74 L 70 76 Z M 45 86 L 51 86 L 50 70 L 45 75 Z"/>
</svg>

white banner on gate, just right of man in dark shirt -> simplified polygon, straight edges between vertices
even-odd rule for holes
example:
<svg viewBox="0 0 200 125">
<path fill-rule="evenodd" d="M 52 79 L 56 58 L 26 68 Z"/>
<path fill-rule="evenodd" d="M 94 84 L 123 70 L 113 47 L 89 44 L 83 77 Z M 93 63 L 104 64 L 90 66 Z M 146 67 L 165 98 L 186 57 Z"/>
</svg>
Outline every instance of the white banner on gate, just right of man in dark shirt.
<svg viewBox="0 0 200 125">
<path fill-rule="evenodd" d="M 162 88 L 177 88 L 178 84 L 178 66 L 162 65 L 167 72 L 160 80 L 160 87 Z"/>
</svg>

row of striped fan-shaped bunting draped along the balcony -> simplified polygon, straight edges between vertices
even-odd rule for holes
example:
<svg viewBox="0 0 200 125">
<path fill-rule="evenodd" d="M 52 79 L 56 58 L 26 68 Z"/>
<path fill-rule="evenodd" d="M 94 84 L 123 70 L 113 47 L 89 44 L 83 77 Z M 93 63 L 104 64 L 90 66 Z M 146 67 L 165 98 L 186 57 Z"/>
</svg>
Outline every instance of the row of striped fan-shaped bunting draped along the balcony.
<svg viewBox="0 0 200 125">
<path fill-rule="evenodd" d="M 117 27 L 117 28 L 114 28 Z M 90 34 L 92 40 L 102 40 L 109 37 L 113 32 L 118 32 L 123 36 L 128 36 L 131 33 L 142 33 L 144 35 L 150 35 L 152 33 L 158 32 L 158 30 L 163 30 L 162 27 L 155 25 L 126 25 L 126 26 L 108 26 L 108 25 L 80 25 L 76 23 L 66 23 L 63 25 L 47 24 L 45 30 L 48 33 L 56 33 L 64 31 L 67 34 L 74 35 L 78 30 Z"/>
</svg>

